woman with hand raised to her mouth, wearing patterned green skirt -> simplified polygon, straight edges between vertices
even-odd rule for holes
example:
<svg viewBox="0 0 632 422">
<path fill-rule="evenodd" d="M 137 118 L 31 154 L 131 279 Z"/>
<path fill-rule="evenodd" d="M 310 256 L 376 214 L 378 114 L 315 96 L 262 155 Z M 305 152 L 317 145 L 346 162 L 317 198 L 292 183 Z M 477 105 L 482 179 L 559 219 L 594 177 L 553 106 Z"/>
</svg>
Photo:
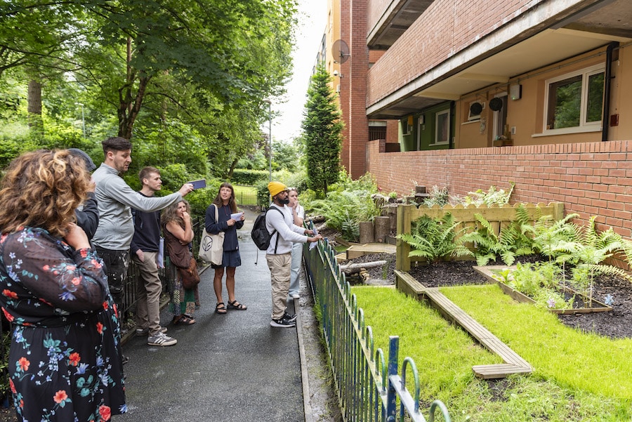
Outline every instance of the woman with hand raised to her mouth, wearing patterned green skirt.
<svg viewBox="0 0 632 422">
<path fill-rule="evenodd" d="M 195 305 L 199 303 L 197 285 L 192 289 L 185 289 L 182 284 L 182 268 L 185 268 L 193 256 L 190 243 L 193 241 L 193 228 L 191 223 L 191 206 L 183 199 L 176 204 L 171 204 L 162 211 L 160 216 L 164 244 L 169 251 L 171 263 L 176 265 L 176 277 L 171 286 L 171 310 L 173 311 L 173 324 L 195 324 L 193 312 Z"/>
</svg>

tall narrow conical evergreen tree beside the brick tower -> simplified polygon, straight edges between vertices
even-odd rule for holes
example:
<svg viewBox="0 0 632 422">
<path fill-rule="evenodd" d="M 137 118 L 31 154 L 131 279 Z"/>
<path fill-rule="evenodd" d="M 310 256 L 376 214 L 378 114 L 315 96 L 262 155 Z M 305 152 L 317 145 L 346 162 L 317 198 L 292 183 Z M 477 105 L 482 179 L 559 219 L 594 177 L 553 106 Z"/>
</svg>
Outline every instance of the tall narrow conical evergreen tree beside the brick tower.
<svg viewBox="0 0 632 422">
<path fill-rule="evenodd" d="M 330 86 L 331 76 L 320 64 L 308 88 L 303 113 L 303 147 L 308 187 L 327 194 L 327 187 L 338 181 L 343 123 Z"/>
</svg>

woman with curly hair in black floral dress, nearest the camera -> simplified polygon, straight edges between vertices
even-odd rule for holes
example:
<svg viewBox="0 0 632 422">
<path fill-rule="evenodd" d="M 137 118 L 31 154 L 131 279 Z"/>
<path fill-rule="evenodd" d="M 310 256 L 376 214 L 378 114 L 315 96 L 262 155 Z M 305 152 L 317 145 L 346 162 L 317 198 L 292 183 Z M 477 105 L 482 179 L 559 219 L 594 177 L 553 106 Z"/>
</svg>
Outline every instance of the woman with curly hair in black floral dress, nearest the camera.
<svg viewBox="0 0 632 422">
<path fill-rule="evenodd" d="M 74 213 L 90 185 L 67 150 L 22 154 L 1 181 L 0 305 L 13 323 L 20 420 L 107 421 L 127 410 L 117 309 Z"/>
</svg>

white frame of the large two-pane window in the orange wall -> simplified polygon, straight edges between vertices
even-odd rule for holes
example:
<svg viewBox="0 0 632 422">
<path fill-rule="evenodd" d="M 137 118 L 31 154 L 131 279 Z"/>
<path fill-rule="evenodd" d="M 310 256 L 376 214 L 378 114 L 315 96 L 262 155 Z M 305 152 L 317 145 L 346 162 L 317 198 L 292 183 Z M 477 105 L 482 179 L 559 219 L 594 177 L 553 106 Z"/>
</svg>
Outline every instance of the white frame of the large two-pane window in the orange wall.
<svg viewBox="0 0 632 422">
<path fill-rule="evenodd" d="M 545 81 L 545 91 L 544 91 L 544 120 L 542 126 L 542 134 L 543 135 L 560 135 L 563 133 L 581 133 L 581 132 L 593 132 L 600 131 L 602 128 L 602 119 L 599 121 L 586 121 L 586 107 L 588 105 L 588 79 L 589 77 L 605 72 L 605 65 L 594 65 L 591 67 L 585 67 L 584 69 L 578 70 L 577 72 L 570 72 L 567 74 L 562 74 L 559 77 L 546 79 Z M 580 110 L 579 110 L 579 126 L 572 126 L 568 128 L 558 128 L 551 129 L 547 128 L 547 119 L 548 119 L 548 107 L 550 104 L 548 103 L 548 95 L 551 89 L 551 84 L 555 84 L 555 82 L 563 81 L 565 79 L 570 79 L 572 77 L 577 77 L 581 75 L 581 100 L 580 100 Z M 603 98 L 602 98 L 603 104 Z"/>
</svg>

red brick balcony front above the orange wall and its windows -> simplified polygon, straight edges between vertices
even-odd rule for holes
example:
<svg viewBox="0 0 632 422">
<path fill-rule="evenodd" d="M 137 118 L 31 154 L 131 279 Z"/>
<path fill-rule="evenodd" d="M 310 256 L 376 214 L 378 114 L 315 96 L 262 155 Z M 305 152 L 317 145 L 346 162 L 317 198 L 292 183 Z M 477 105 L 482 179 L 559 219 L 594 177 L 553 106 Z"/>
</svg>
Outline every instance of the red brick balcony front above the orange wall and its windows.
<svg viewBox="0 0 632 422">
<path fill-rule="evenodd" d="M 595 0 L 567 4 L 555 0 L 435 0 L 369 70 L 367 105 L 406 86 L 527 12 L 534 11 L 537 18 L 523 24 L 525 27 L 520 29 L 523 37 L 541 31 L 562 7 L 568 10 L 577 4 L 593 3 Z M 497 39 L 492 44 L 501 48 L 507 41 L 510 40 Z"/>
</svg>

